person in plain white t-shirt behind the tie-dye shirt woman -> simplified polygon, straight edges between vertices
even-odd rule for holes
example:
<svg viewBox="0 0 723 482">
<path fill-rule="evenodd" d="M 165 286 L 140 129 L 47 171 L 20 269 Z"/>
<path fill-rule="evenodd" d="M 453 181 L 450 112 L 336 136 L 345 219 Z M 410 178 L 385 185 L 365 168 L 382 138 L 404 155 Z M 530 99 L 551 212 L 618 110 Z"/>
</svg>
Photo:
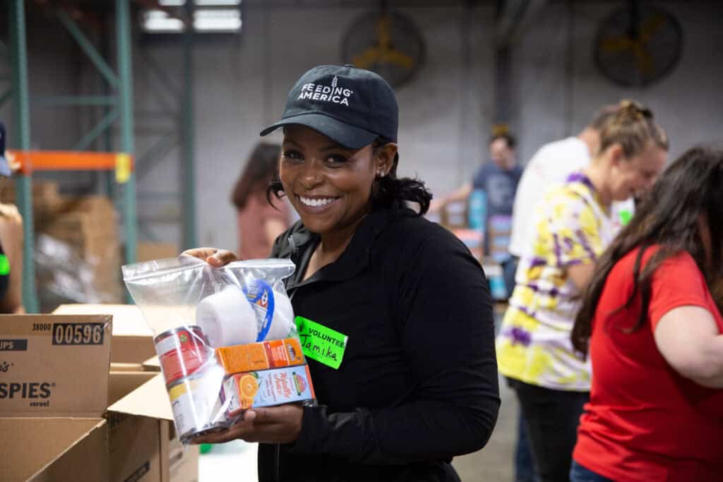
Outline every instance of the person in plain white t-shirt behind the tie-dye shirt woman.
<svg viewBox="0 0 723 482">
<path fill-rule="evenodd" d="M 514 257 L 521 257 L 532 246 L 536 236 L 534 223 L 531 223 L 535 205 L 547 189 L 562 184 L 571 173 L 581 171 L 590 163 L 600 145 L 600 129 L 615 114 L 615 108 L 601 108 L 580 134 L 549 142 L 540 147 L 527 163 L 513 205 L 509 250 Z M 634 209 L 633 199 L 613 203 L 612 219 L 617 224 L 616 228 L 627 223 Z"/>
</svg>

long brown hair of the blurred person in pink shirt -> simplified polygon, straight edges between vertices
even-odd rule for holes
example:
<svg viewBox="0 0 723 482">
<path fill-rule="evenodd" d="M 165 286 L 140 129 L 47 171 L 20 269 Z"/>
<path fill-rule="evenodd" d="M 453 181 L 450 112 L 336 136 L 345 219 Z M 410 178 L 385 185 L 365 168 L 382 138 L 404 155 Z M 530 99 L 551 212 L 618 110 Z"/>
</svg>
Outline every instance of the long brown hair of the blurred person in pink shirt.
<svg viewBox="0 0 723 482">
<path fill-rule="evenodd" d="M 278 178 L 279 158 L 281 145 L 259 142 L 254 147 L 234 191 L 231 191 L 231 202 L 237 209 L 243 209 L 254 193 L 264 194 L 271 181 Z"/>
</svg>

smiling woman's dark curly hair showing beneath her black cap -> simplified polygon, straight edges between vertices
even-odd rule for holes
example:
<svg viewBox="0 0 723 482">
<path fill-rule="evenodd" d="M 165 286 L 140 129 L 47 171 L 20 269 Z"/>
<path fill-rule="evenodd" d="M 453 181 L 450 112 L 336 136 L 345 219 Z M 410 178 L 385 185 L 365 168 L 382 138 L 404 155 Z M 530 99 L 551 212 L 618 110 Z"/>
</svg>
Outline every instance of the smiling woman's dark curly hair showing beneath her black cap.
<svg viewBox="0 0 723 482">
<path fill-rule="evenodd" d="M 375 152 L 390 143 L 389 139 L 377 137 L 372 144 Z M 419 205 L 417 211 L 418 216 L 422 216 L 429 210 L 429 202 L 432 201 L 432 193 L 424 185 L 424 181 L 417 178 L 398 178 L 397 165 L 399 163 L 399 154 L 394 155 L 392 168 L 386 176 L 377 176 L 372 184 L 372 192 L 370 199 L 372 202 L 372 210 L 380 207 L 405 207 L 407 202 L 414 202 Z M 271 202 L 271 196 L 281 199 L 286 195 L 283 191 L 281 179 L 275 176 L 266 190 L 266 199 Z"/>
</svg>

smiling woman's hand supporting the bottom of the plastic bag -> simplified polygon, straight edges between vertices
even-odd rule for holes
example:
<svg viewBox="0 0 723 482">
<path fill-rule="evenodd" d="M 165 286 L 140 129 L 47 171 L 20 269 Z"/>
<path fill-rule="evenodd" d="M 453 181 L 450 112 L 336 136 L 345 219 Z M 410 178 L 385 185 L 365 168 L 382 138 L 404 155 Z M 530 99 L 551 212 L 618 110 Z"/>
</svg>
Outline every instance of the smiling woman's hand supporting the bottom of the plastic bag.
<svg viewBox="0 0 723 482">
<path fill-rule="evenodd" d="M 279 405 L 278 407 L 249 408 L 244 418 L 228 429 L 215 434 L 194 438 L 192 444 L 223 444 L 241 439 L 246 442 L 267 444 L 288 444 L 295 442 L 301 432 L 301 405 Z"/>
</svg>

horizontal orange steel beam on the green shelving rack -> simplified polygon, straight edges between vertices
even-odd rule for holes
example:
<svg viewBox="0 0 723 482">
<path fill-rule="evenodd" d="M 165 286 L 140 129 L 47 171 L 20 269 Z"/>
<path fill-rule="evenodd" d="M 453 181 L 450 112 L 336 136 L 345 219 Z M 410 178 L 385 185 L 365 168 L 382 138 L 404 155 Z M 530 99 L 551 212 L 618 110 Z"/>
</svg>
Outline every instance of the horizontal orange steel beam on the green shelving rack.
<svg viewBox="0 0 723 482">
<path fill-rule="evenodd" d="M 133 158 L 123 152 L 74 152 L 64 150 L 7 150 L 14 171 L 117 171 L 133 170 Z M 122 167 L 120 167 L 122 166 Z"/>
</svg>

